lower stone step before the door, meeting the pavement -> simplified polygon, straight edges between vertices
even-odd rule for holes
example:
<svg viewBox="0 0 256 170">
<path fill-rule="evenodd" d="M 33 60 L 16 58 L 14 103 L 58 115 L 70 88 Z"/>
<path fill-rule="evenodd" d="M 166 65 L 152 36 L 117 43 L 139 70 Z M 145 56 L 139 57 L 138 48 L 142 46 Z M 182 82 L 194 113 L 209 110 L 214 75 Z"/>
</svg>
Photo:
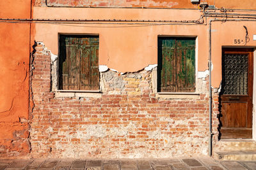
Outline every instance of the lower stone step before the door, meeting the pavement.
<svg viewBox="0 0 256 170">
<path fill-rule="evenodd" d="M 256 150 L 215 152 L 219 160 L 256 160 Z"/>
</svg>

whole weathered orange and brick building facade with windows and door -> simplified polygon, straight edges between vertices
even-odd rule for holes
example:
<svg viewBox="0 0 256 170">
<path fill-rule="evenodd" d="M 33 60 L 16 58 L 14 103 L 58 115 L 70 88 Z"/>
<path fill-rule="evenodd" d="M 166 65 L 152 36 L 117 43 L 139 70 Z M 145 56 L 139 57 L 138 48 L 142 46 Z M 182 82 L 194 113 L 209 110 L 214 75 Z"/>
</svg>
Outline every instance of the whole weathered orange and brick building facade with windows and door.
<svg viewBox="0 0 256 170">
<path fill-rule="evenodd" d="M 254 142 L 254 1 L 23 6 L 28 16 L 0 17 L 28 31 L 22 61 L 12 60 L 26 71 L 9 77 L 23 101 L 10 97 L 0 117 L 3 157 L 167 158 Z"/>
</svg>

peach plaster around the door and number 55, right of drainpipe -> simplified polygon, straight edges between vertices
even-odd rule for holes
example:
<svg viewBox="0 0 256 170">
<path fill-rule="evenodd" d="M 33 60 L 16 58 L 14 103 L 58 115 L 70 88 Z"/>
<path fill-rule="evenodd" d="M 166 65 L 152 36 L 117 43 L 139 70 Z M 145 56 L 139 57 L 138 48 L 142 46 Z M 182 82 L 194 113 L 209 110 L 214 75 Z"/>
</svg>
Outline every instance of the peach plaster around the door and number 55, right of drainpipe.
<svg viewBox="0 0 256 170">
<path fill-rule="evenodd" d="M 250 40 L 245 45 L 246 30 Z M 253 47 L 256 41 L 253 41 L 253 34 L 256 35 L 255 22 L 212 22 L 212 87 L 220 87 L 221 82 L 221 47 Z M 235 43 L 235 39 L 240 39 L 243 43 Z M 255 65 L 254 65 L 255 66 Z"/>
</svg>

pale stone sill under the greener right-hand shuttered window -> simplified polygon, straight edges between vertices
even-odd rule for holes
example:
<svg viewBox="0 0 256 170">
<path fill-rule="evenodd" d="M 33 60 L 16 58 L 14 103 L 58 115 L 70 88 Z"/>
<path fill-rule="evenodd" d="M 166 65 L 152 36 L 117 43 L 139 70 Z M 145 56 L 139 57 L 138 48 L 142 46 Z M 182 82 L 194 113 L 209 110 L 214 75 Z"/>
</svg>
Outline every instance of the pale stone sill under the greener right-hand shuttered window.
<svg viewBox="0 0 256 170">
<path fill-rule="evenodd" d="M 156 97 L 163 99 L 198 99 L 200 94 L 196 92 L 157 92 Z"/>
</svg>

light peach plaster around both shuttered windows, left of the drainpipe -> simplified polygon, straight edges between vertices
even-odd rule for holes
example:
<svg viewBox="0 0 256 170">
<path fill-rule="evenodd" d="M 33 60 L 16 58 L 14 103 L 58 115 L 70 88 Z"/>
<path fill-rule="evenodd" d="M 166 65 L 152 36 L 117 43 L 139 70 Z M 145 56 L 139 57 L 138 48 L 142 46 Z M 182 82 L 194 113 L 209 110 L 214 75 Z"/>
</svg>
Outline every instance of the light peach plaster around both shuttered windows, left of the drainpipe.
<svg viewBox="0 0 256 170">
<path fill-rule="evenodd" d="M 197 20 L 200 13 L 188 10 L 153 9 L 93 9 L 93 8 L 34 8 L 35 18 L 84 19 L 143 19 Z M 62 14 L 62 15 L 60 15 Z M 179 17 L 177 17 L 179 16 Z M 99 65 L 107 65 L 119 72 L 135 72 L 148 64 L 157 64 L 157 36 L 197 36 L 198 53 L 207 69 L 207 31 L 204 25 L 115 25 L 115 24 L 36 24 L 36 41 L 42 41 L 54 55 L 58 55 L 58 34 L 99 34 Z"/>
</svg>

